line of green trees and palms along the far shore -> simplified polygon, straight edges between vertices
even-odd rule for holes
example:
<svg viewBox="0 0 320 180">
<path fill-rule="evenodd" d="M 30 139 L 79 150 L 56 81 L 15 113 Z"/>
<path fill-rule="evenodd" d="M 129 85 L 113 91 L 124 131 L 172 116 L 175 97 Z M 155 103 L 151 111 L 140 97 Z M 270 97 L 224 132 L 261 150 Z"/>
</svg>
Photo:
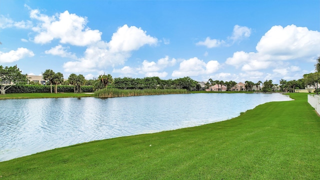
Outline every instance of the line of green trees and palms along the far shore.
<svg viewBox="0 0 320 180">
<path fill-rule="evenodd" d="M 244 89 L 246 91 L 252 91 L 255 86 L 256 89 L 262 85 L 261 91 L 284 91 L 294 92 L 294 89 L 304 89 L 306 87 L 315 88 L 315 92 L 318 93 L 318 83 L 320 82 L 320 56 L 317 58 L 314 73 L 304 74 L 303 78 L 298 80 L 279 80 L 279 84 L 273 83 L 272 80 L 252 82 L 245 81 Z M 144 78 L 132 78 L 132 77 L 116 77 L 112 78 L 110 74 L 99 75 L 98 78 L 85 80 L 82 74 L 76 75 L 71 73 L 66 81 L 63 80 L 63 74 L 61 72 L 54 72 L 52 69 L 46 69 L 44 71 L 43 79 L 46 80 L 46 85 L 50 84 L 50 92 L 52 93 L 52 85 L 54 85 L 54 93 L 57 93 L 57 85 L 73 85 L 75 93 L 81 92 L 81 86 L 91 85 L 93 90 L 107 88 L 107 86 L 119 88 L 119 89 L 187 89 L 187 90 L 203 90 L 198 81 L 186 76 L 177 79 L 160 79 L 159 77 L 144 77 Z M 10 88 L 13 84 L 27 82 L 27 74 L 22 74 L 21 70 L 17 66 L 3 67 L 0 65 L 0 92 L 5 93 L 5 90 Z M 223 81 L 212 80 L 211 78 L 205 82 L 205 88 L 209 88 L 212 85 L 218 85 L 218 89 L 222 90 L 222 86 L 226 86 L 226 90 L 231 91 L 237 83 L 235 81 Z M 311 88 L 307 88 L 310 90 Z"/>
</svg>

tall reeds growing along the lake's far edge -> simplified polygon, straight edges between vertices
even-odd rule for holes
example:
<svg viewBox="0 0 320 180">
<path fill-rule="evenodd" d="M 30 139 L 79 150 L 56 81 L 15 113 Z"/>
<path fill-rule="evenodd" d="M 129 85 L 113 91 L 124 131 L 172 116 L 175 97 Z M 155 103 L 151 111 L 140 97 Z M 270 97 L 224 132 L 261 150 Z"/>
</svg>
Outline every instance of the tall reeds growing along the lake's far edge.
<svg viewBox="0 0 320 180">
<path fill-rule="evenodd" d="M 186 89 L 118 89 L 104 88 L 94 92 L 95 97 L 123 97 L 137 95 L 160 95 L 187 93 Z"/>
</svg>

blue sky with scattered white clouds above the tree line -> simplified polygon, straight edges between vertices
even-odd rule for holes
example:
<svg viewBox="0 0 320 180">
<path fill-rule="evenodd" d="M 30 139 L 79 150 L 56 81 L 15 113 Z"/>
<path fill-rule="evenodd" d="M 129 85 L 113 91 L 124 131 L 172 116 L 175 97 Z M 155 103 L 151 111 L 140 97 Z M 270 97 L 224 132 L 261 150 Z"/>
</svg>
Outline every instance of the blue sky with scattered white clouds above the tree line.
<svg viewBox="0 0 320 180">
<path fill-rule="evenodd" d="M 1 0 L 0 65 L 113 77 L 302 78 L 319 0 Z"/>
</svg>

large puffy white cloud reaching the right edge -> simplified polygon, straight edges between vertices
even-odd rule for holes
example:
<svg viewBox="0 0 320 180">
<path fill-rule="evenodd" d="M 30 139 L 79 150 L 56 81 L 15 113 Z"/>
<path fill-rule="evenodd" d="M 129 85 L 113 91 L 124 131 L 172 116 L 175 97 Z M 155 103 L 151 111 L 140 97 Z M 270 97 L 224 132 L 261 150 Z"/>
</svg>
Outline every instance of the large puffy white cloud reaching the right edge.
<svg viewBox="0 0 320 180">
<path fill-rule="evenodd" d="M 256 52 L 237 51 L 225 63 L 255 71 L 283 60 L 310 59 L 320 55 L 320 32 L 295 25 L 272 26 L 259 40 Z M 292 67 L 297 70 L 298 67 Z"/>
</svg>

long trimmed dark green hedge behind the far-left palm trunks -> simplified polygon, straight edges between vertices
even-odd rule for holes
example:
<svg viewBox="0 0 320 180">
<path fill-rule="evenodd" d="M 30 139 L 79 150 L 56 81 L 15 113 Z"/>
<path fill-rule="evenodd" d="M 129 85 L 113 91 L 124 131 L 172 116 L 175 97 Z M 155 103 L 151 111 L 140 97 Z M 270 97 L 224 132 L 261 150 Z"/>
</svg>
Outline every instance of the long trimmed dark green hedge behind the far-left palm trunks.
<svg viewBox="0 0 320 180">
<path fill-rule="evenodd" d="M 82 92 L 93 92 L 93 86 L 81 86 Z M 52 92 L 54 85 L 52 85 Z M 58 92 L 73 92 L 73 85 L 58 85 Z M 29 85 L 29 84 L 16 84 L 5 90 L 5 93 L 35 93 L 35 92 L 50 92 L 50 85 Z"/>
</svg>

